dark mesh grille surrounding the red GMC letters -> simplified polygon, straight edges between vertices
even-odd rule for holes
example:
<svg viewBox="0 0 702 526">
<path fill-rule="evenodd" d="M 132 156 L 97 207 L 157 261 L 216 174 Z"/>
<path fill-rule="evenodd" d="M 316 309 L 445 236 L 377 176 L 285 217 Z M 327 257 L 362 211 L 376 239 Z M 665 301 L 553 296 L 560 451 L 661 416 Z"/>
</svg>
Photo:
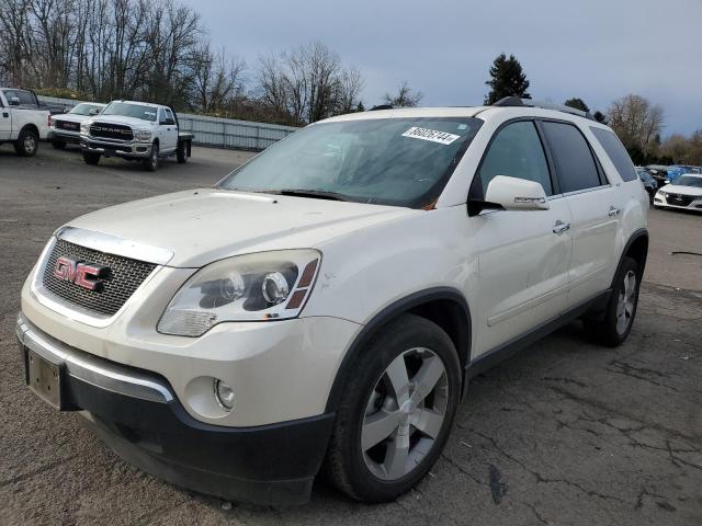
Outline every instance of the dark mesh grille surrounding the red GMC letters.
<svg viewBox="0 0 702 526">
<path fill-rule="evenodd" d="M 109 271 L 101 276 L 100 289 L 90 290 L 71 281 L 56 277 L 54 275 L 56 260 L 60 256 L 107 266 Z M 43 276 L 44 288 L 52 295 L 91 312 L 112 316 L 132 297 L 144 279 L 154 272 L 154 268 L 156 265 L 152 263 L 107 254 L 59 239 L 46 262 Z"/>
</svg>

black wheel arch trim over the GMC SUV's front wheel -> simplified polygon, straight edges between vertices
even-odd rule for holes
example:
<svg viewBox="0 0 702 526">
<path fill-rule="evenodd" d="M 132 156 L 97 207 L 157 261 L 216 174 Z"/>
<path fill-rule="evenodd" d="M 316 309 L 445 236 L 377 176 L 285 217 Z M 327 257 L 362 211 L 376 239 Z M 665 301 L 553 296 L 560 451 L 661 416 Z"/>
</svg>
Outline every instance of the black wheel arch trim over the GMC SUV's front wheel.
<svg viewBox="0 0 702 526">
<path fill-rule="evenodd" d="M 438 324 L 453 341 L 462 368 L 462 392 L 465 391 L 466 368 L 471 362 L 472 318 L 468 302 L 461 291 L 451 287 L 435 287 L 406 296 L 377 312 L 356 334 L 337 370 L 327 398 L 326 412 L 339 407 L 343 388 L 352 367 L 371 338 L 397 317 L 412 313 Z"/>
</svg>

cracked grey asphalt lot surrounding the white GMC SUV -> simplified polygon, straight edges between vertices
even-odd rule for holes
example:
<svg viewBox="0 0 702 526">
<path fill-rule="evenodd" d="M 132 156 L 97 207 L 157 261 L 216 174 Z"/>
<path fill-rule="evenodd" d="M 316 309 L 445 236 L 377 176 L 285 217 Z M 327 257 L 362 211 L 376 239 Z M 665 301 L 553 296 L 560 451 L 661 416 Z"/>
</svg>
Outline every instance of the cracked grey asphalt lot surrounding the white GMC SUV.
<svg viewBox="0 0 702 526">
<path fill-rule="evenodd" d="M 156 173 L 42 145 L 0 148 L 0 525 L 702 524 L 702 215 L 652 210 L 649 264 L 619 348 L 573 323 L 474 379 L 446 449 L 394 503 L 354 503 L 322 481 L 302 507 L 258 510 L 194 494 L 126 465 L 75 414 L 21 381 L 22 282 L 68 219 L 208 185 L 249 153 L 195 148 Z"/>
</svg>

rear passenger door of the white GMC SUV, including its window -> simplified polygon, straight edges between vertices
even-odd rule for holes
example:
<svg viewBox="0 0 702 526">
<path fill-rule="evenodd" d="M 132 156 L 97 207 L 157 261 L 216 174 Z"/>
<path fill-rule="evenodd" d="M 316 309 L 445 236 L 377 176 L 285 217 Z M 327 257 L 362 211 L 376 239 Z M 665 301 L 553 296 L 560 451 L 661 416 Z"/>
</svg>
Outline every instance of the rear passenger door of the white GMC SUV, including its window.
<svg viewBox="0 0 702 526">
<path fill-rule="evenodd" d="M 582 132 L 571 123 L 540 123 L 553 156 L 558 184 L 573 216 L 573 262 L 568 307 L 608 289 L 616 265 L 621 192 L 607 180 Z"/>
</svg>

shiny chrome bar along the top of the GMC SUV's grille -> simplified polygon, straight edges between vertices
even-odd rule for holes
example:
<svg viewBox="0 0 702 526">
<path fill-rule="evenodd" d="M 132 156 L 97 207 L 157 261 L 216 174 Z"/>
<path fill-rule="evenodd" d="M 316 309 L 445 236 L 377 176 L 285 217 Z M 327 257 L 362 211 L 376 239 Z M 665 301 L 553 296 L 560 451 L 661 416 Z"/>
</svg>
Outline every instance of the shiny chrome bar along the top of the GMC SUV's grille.
<svg viewBox="0 0 702 526">
<path fill-rule="evenodd" d="M 166 265 L 173 258 L 172 250 L 129 241 L 109 233 L 86 230 L 84 228 L 64 227 L 56 232 L 56 237 L 88 249 L 145 261 L 156 265 Z"/>
</svg>

